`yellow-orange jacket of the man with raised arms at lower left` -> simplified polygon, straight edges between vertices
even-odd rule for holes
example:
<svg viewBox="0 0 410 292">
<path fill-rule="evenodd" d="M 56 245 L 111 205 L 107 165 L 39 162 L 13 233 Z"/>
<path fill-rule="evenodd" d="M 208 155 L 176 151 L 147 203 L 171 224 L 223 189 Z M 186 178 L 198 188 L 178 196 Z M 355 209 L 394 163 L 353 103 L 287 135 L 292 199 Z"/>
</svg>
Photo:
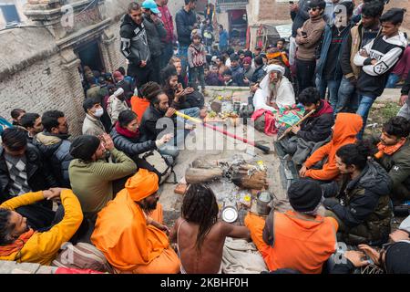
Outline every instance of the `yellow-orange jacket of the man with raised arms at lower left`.
<svg viewBox="0 0 410 292">
<path fill-rule="evenodd" d="M 43 192 L 25 193 L 0 205 L 14 211 L 16 208 L 44 200 Z M 50 265 L 55 259 L 61 245 L 66 243 L 76 232 L 83 221 L 83 213 L 77 196 L 71 190 L 61 192 L 61 203 L 64 206 L 63 220 L 49 231 L 36 232 L 26 242 L 20 252 L 0 256 L 0 260 L 37 263 Z"/>
</svg>

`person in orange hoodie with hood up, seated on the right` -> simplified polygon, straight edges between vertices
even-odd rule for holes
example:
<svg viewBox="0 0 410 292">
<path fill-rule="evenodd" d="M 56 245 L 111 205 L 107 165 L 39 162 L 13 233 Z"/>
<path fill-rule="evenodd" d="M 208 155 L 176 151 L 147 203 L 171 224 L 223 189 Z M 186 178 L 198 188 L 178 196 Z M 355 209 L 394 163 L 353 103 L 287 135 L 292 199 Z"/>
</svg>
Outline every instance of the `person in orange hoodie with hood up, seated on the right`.
<svg viewBox="0 0 410 292">
<path fill-rule="evenodd" d="M 359 115 L 345 112 L 337 114 L 332 128 L 332 140 L 313 152 L 312 156 L 303 163 L 299 175 L 327 183 L 335 179 L 340 173 L 336 165 L 336 151 L 343 145 L 356 141 L 356 135 L 362 129 L 362 124 L 363 120 Z"/>
</svg>

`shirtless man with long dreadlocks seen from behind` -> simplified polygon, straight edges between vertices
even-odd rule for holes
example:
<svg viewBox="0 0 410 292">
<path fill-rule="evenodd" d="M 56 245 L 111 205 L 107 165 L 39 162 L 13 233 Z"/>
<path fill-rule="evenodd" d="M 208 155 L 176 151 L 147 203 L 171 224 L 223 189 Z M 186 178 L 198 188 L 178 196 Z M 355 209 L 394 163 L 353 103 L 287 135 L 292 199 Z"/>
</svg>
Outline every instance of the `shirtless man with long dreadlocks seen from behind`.
<svg viewBox="0 0 410 292">
<path fill-rule="evenodd" d="M 250 239 L 247 227 L 218 222 L 218 213 L 210 188 L 191 184 L 170 235 L 177 242 L 182 274 L 220 274 L 225 238 Z"/>
</svg>

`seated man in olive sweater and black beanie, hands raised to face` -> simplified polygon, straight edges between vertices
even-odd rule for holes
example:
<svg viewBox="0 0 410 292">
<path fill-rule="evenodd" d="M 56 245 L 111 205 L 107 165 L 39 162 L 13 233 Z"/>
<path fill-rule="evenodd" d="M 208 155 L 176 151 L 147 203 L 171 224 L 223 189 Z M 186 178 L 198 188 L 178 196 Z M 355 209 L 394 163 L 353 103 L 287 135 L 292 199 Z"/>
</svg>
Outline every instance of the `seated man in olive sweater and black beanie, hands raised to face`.
<svg viewBox="0 0 410 292">
<path fill-rule="evenodd" d="M 68 169 L 73 192 L 76 193 L 87 219 L 95 221 L 97 213 L 113 199 L 113 182 L 137 171 L 137 165 L 114 147 L 108 134 L 100 141 L 96 136 L 78 136 L 70 147 L 74 160 Z M 107 162 L 106 152 L 113 162 Z"/>
</svg>

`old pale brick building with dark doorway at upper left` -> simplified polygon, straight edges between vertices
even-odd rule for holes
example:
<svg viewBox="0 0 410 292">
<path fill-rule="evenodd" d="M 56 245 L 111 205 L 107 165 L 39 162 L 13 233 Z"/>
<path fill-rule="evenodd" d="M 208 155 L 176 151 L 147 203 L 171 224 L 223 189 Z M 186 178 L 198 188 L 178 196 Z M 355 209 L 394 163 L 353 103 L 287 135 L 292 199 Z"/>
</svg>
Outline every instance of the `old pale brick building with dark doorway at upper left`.
<svg viewBox="0 0 410 292">
<path fill-rule="evenodd" d="M 59 1 L 29 0 L 24 8 L 29 26 L 40 27 L 0 31 L 0 115 L 9 119 L 14 108 L 63 110 L 71 132 L 78 134 L 84 118 L 78 68 L 87 61 L 86 52 L 108 71 L 125 66 L 118 32 L 128 2 L 71 1 L 73 26 L 67 26 L 71 20 Z"/>
</svg>

